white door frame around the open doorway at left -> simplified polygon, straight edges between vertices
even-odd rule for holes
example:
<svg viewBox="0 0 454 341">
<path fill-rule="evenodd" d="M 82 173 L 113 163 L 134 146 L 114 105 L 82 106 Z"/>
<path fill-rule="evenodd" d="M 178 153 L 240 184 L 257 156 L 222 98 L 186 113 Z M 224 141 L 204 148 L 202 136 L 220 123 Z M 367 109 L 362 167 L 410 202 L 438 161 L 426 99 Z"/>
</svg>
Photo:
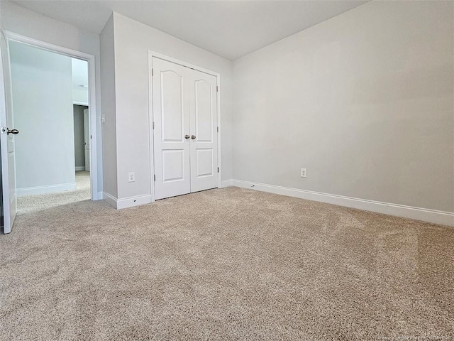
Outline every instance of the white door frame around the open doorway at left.
<svg viewBox="0 0 454 341">
<path fill-rule="evenodd" d="M 67 55 L 71 58 L 77 58 L 85 60 L 88 63 L 88 109 L 89 109 L 89 121 L 90 121 L 90 136 L 92 136 L 92 143 L 90 145 L 90 194 L 92 200 L 101 200 L 99 197 L 98 189 L 98 158 L 97 158 L 97 128 L 98 124 L 96 121 L 96 70 L 95 70 L 95 57 L 89 53 L 84 53 L 70 48 L 63 48 L 62 46 L 45 43 L 42 40 L 21 36 L 20 34 L 13 33 L 11 31 L 5 31 L 6 38 L 8 40 L 17 41 L 26 45 L 31 45 L 35 48 L 42 50 L 48 50 L 50 52 L 58 53 L 60 55 Z"/>
</svg>

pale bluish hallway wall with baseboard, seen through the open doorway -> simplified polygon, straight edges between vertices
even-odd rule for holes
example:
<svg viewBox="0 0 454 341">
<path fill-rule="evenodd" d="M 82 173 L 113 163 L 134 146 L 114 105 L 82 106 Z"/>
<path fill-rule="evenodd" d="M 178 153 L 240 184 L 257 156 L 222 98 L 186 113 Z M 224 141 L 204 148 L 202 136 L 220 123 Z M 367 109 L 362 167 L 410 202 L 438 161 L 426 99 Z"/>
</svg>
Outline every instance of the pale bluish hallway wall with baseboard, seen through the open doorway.
<svg viewBox="0 0 454 341">
<path fill-rule="evenodd" d="M 71 58 L 10 42 L 18 195 L 75 188 Z"/>
</svg>

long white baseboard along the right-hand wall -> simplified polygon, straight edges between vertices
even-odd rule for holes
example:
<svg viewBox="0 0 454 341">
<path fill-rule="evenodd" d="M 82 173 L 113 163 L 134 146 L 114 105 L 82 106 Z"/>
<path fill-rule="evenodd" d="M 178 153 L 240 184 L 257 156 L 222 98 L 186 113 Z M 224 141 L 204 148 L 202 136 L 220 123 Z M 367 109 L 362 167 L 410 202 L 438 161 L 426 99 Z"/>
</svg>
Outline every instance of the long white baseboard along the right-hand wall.
<svg viewBox="0 0 454 341">
<path fill-rule="evenodd" d="M 226 183 L 230 180 L 226 180 Z M 422 207 L 412 207 L 406 205 L 393 204 L 390 202 L 380 202 L 375 200 L 359 199 L 357 197 L 345 197 L 328 193 L 313 192 L 311 190 L 299 190 L 297 188 L 287 188 L 265 183 L 252 183 L 250 181 L 232 180 L 236 187 L 261 190 L 263 192 L 287 195 L 289 197 L 299 197 L 306 200 L 327 202 L 328 204 L 352 207 L 358 210 L 366 210 L 386 215 L 396 215 L 414 220 L 423 220 L 434 224 L 443 224 L 454 227 L 454 212 L 444 212 L 430 210 Z"/>
</svg>

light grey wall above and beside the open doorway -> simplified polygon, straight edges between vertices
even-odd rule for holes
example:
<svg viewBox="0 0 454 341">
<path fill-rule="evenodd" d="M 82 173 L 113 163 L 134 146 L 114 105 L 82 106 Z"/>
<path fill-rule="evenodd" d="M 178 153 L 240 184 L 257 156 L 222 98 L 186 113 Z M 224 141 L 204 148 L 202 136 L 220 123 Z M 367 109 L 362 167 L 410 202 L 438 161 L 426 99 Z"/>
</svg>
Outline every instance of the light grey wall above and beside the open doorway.
<svg viewBox="0 0 454 341">
<path fill-rule="evenodd" d="M 54 45 L 78 50 L 95 56 L 96 68 L 96 134 L 98 190 L 102 190 L 102 140 L 101 140 L 101 73 L 99 35 L 83 31 L 75 26 L 62 23 L 34 11 L 24 9 L 9 1 L 1 1 L 1 24 L 6 31 Z"/>
</svg>

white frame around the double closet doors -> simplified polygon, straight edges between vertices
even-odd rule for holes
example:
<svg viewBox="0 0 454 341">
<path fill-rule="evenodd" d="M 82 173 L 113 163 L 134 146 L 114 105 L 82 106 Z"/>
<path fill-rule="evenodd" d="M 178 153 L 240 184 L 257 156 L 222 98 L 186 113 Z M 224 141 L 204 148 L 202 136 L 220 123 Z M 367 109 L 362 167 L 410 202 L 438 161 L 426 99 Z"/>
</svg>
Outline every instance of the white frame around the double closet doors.
<svg viewBox="0 0 454 341">
<path fill-rule="evenodd" d="M 182 65 L 184 67 L 189 67 L 189 69 L 193 69 L 196 71 L 204 72 L 208 75 L 212 75 L 216 77 L 216 111 L 217 111 L 217 119 L 218 119 L 218 188 L 221 188 L 221 74 L 218 72 L 214 72 L 204 67 L 199 67 L 197 65 L 193 65 L 183 60 L 179 60 L 177 58 L 169 57 L 168 55 L 163 55 L 162 53 L 157 53 L 152 50 L 148 50 L 148 124 L 150 134 L 148 134 L 148 142 L 150 144 L 150 191 L 151 191 L 151 202 L 155 202 L 155 146 L 153 140 L 155 138 L 155 131 L 153 129 L 153 121 L 154 121 L 154 113 L 153 113 L 153 77 L 152 77 L 152 69 L 153 69 L 153 58 L 159 58 L 165 60 L 170 63 L 175 63 L 178 65 Z"/>
</svg>

